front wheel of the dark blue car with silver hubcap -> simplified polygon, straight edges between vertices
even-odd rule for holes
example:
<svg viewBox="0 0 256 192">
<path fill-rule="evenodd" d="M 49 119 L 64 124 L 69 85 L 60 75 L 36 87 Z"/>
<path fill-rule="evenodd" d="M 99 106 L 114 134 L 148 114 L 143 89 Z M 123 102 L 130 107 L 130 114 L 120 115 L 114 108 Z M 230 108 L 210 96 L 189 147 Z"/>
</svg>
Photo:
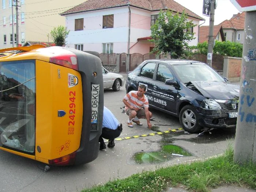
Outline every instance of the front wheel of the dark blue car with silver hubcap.
<svg viewBox="0 0 256 192">
<path fill-rule="evenodd" d="M 181 109 L 180 124 L 185 131 L 190 133 L 198 132 L 202 128 L 199 125 L 198 113 L 191 105 L 186 105 Z"/>
</svg>

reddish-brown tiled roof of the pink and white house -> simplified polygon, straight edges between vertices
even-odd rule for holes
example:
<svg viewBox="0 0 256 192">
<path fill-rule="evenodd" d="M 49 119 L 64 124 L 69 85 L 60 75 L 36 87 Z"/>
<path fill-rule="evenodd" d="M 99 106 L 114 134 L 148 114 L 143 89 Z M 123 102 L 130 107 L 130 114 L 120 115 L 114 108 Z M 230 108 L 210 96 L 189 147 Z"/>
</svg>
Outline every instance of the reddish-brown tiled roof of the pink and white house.
<svg viewBox="0 0 256 192">
<path fill-rule="evenodd" d="M 106 8 L 127 6 L 130 3 L 133 7 L 142 8 L 148 11 L 158 11 L 170 9 L 174 12 L 182 12 L 183 10 L 188 16 L 204 20 L 204 18 L 190 11 L 189 9 L 178 4 L 174 0 L 87 0 L 65 12 L 61 15 L 69 15 L 78 12 L 101 10 Z"/>
</svg>

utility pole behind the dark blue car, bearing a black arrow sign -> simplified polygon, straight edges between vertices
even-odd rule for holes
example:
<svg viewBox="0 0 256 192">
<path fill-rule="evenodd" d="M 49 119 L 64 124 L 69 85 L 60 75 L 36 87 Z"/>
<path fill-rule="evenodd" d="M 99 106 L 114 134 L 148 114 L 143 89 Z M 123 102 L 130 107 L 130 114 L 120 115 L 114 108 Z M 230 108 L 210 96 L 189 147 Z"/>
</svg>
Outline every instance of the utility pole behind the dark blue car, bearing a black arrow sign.
<svg viewBox="0 0 256 192">
<path fill-rule="evenodd" d="M 214 30 L 214 14 L 215 14 L 215 0 L 211 0 L 211 13 L 210 13 L 210 26 L 208 35 L 208 53 L 207 53 L 207 65 L 212 66 L 212 52 L 213 52 L 213 30 Z"/>
</svg>

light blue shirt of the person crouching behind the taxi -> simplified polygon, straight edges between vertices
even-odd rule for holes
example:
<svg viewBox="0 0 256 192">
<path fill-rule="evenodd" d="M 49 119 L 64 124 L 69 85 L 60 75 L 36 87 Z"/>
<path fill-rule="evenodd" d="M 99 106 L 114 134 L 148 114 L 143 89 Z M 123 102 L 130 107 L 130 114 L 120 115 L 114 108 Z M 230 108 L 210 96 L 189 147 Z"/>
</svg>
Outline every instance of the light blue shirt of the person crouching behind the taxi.
<svg viewBox="0 0 256 192">
<path fill-rule="evenodd" d="M 117 118 L 113 115 L 113 113 L 104 106 L 103 109 L 103 121 L 102 121 L 102 128 L 106 127 L 109 129 L 117 129 L 118 126 L 118 120 Z"/>
</svg>

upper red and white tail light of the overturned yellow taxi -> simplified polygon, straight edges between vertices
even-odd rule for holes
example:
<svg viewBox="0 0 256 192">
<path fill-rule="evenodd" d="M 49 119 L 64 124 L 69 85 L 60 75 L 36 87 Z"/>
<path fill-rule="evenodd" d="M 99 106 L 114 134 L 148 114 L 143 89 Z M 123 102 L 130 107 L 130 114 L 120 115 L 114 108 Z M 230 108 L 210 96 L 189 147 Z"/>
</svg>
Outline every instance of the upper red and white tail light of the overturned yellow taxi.
<svg viewBox="0 0 256 192">
<path fill-rule="evenodd" d="M 78 71 L 78 61 L 77 61 L 76 54 L 74 53 L 60 54 L 57 56 L 50 57 L 49 62 L 57 65 L 61 65 L 63 67 L 75 69 L 76 71 Z"/>
</svg>

